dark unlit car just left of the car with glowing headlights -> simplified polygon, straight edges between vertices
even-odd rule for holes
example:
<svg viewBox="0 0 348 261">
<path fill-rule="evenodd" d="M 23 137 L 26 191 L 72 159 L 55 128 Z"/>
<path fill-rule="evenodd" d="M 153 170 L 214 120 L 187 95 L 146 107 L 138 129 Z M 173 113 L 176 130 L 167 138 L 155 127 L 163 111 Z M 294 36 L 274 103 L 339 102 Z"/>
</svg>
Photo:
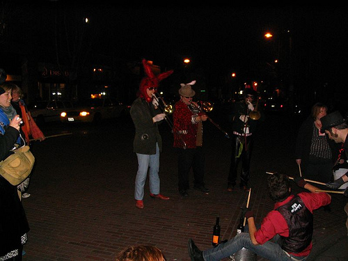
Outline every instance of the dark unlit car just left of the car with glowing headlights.
<svg viewBox="0 0 348 261">
<path fill-rule="evenodd" d="M 42 126 L 45 122 L 59 122 L 61 112 L 72 107 L 70 101 L 38 101 L 29 105 L 29 111 L 36 124 Z"/>
</svg>

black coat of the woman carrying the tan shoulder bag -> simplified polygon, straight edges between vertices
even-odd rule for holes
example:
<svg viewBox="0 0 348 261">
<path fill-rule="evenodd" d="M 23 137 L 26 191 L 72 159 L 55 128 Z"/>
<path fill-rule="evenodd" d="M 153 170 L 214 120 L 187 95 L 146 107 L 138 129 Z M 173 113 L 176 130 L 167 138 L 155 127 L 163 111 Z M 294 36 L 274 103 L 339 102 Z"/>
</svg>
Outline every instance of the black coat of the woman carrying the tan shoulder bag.
<svg viewBox="0 0 348 261">
<path fill-rule="evenodd" d="M 6 159 L 8 152 L 19 132 L 13 127 L 8 127 L 4 135 L 0 135 L 0 159 Z M 13 186 L 0 175 L 0 256 L 20 248 L 21 237 L 29 232 L 29 224 L 21 200 L 18 196 L 17 186 Z M 19 253 L 22 255 L 22 253 Z"/>
</svg>

